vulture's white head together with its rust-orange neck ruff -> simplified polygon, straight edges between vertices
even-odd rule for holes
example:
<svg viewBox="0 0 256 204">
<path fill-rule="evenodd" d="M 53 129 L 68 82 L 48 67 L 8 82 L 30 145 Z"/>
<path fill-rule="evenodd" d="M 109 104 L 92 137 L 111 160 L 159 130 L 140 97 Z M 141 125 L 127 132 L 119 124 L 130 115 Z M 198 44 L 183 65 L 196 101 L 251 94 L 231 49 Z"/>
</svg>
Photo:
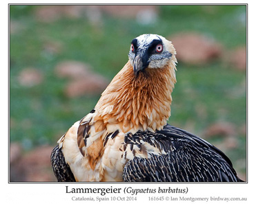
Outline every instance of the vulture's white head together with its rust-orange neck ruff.
<svg viewBox="0 0 256 204">
<path fill-rule="evenodd" d="M 173 44 L 157 34 L 133 39 L 128 62 L 95 106 L 95 121 L 108 124 L 108 132 L 116 128 L 124 133 L 161 130 L 170 117 L 175 54 Z"/>
</svg>

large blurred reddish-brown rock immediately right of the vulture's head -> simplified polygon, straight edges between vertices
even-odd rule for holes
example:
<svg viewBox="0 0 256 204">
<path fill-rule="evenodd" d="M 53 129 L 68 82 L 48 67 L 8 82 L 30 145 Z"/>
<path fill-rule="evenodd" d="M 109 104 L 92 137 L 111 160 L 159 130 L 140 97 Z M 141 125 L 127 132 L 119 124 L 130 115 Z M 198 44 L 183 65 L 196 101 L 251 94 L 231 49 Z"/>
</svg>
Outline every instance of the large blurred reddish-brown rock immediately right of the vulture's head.
<svg viewBox="0 0 256 204">
<path fill-rule="evenodd" d="M 213 38 L 193 32 L 181 32 L 168 37 L 177 51 L 177 60 L 191 65 L 204 65 L 219 58 L 222 46 Z"/>
</svg>

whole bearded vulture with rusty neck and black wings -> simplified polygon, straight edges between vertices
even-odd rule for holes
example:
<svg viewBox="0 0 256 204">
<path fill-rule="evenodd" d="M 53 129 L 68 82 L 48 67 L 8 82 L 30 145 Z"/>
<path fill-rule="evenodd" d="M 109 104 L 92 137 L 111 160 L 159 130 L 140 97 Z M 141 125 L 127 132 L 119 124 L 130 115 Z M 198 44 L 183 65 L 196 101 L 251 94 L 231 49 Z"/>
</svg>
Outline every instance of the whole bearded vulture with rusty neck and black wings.
<svg viewBox="0 0 256 204">
<path fill-rule="evenodd" d="M 52 150 L 57 181 L 242 181 L 221 150 L 167 124 L 177 59 L 157 34 L 133 39 L 128 63 L 95 109 Z"/>
</svg>

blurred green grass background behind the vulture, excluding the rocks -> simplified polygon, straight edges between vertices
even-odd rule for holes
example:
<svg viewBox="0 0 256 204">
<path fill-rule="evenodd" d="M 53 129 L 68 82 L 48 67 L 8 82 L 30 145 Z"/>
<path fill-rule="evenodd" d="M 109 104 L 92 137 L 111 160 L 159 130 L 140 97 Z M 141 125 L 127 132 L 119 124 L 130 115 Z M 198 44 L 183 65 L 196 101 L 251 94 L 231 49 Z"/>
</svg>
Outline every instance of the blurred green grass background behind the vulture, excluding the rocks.
<svg viewBox="0 0 256 204">
<path fill-rule="evenodd" d="M 215 38 L 226 49 L 246 45 L 245 5 L 160 5 L 152 25 L 135 19 L 104 14 L 100 26 L 86 18 L 61 17 L 52 23 L 35 18 L 40 5 L 10 5 L 10 21 L 19 23 L 19 32 L 10 34 L 10 141 L 25 150 L 43 144 L 55 145 L 61 134 L 95 106 L 100 95 L 68 98 L 66 79 L 57 78 L 55 67 L 62 60 L 90 64 L 110 81 L 128 60 L 132 38 L 144 33 L 171 36 L 177 32 L 201 32 Z M 61 43 L 58 54 L 43 48 L 47 42 Z M 175 42 L 173 42 L 175 43 Z M 36 67 L 43 83 L 22 87 L 17 78 L 22 69 Z M 201 135 L 215 122 L 230 122 L 236 130 L 246 124 L 246 72 L 215 60 L 203 67 L 177 64 L 169 123 Z M 200 114 L 201 109 L 205 113 Z M 225 153 L 235 168 L 246 172 L 246 135 L 238 133 L 237 148 Z M 219 144 L 224 138 L 208 141 Z"/>
</svg>

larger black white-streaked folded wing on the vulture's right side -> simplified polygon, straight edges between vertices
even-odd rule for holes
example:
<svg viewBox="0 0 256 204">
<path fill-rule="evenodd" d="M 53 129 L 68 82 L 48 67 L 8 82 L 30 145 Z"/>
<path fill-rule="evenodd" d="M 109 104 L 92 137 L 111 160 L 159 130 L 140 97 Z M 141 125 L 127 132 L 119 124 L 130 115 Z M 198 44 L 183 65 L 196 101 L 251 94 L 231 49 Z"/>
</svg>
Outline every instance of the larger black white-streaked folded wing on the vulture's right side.
<svg viewBox="0 0 256 204">
<path fill-rule="evenodd" d="M 230 159 L 224 152 L 196 135 L 170 125 L 156 133 L 145 131 L 135 133 L 134 137 L 136 135 L 145 135 L 142 139 L 144 142 L 161 146 L 167 153 L 150 153 L 150 159 L 135 157 L 128 161 L 123 172 L 124 181 L 242 181 L 237 177 Z"/>
</svg>

